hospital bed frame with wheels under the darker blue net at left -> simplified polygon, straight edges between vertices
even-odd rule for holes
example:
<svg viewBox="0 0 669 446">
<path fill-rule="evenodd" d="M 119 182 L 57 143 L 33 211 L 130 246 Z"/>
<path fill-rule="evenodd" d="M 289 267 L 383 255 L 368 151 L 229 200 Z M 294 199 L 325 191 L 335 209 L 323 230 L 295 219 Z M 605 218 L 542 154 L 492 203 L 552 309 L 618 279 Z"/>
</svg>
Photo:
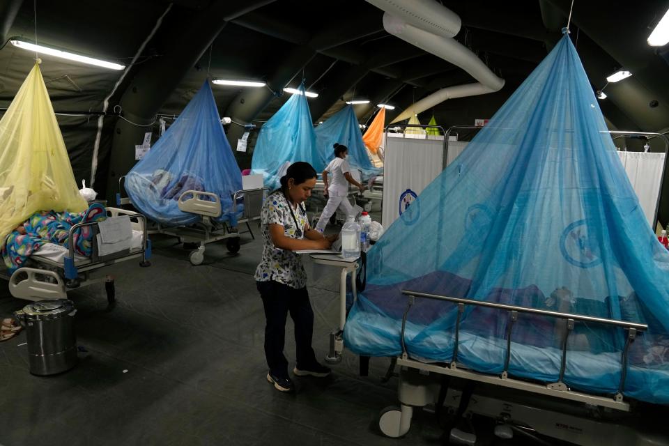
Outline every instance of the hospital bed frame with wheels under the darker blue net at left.
<svg viewBox="0 0 669 446">
<path fill-rule="evenodd" d="M 119 192 L 116 194 L 116 201 L 119 206 L 132 204 L 130 197 L 121 197 L 124 178 L 118 179 Z M 220 197 L 212 192 L 187 190 L 178 197 L 178 208 L 182 212 L 199 215 L 200 222 L 190 226 L 166 226 L 151 222 L 148 232 L 173 236 L 178 238 L 180 243 L 196 245 L 188 257 L 194 266 L 204 261 L 206 245 L 210 243 L 226 240 L 226 248 L 234 254 L 240 249 L 239 224 L 246 224 L 247 232 L 255 238 L 250 222 L 259 220 L 266 192 L 266 187 L 253 187 L 234 192 L 232 214 L 236 215 L 236 222 L 217 222 L 215 219 L 222 215 Z"/>
</svg>

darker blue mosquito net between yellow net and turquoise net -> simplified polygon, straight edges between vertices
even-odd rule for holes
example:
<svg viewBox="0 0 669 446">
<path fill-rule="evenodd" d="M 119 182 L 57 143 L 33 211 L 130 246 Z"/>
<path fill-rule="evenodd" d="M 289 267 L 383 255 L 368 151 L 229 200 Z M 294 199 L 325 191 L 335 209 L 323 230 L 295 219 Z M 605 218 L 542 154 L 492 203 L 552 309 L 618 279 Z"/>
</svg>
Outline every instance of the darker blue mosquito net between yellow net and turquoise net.
<svg viewBox="0 0 669 446">
<path fill-rule="evenodd" d="M 201 219 L 178 208 L 178 199 L 187 190 L 216 194 L 222 213 L 215 220 L 236 224 L 232 195 L 241 188 L 242 175 L 208 80 L 125 177 L 125 190 L 134 206 L 151 220 L 170 226 Z"/>
</svg>

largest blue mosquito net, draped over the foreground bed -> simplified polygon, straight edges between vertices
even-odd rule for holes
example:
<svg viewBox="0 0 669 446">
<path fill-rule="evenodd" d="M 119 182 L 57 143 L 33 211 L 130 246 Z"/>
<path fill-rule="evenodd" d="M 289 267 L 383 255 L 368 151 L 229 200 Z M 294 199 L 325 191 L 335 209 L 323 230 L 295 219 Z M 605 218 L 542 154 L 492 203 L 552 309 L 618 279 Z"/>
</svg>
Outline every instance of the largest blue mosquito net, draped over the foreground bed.
<svg viewBox="0 0 669 446">
<path fill-rule="evenodd" d="M 569 36 L 542 61 L 459 157 L 367 253 L 344 341 L 360 355 L 399 355 L 401 290 L 647 323 L 631 344 L 622 393 L 669 403 L 669 254 L 606 132 Z M 410 357 L 450 362 L 455 304 L 416 298 Z M 457 361 L 500 374 L 509 312 L 468 305 Z M 511 376 L 556 382 L 564 320 L 518 314 Z M 614 394 L 626 331 L 576 321 L 563 382 Z"/>
</svg>

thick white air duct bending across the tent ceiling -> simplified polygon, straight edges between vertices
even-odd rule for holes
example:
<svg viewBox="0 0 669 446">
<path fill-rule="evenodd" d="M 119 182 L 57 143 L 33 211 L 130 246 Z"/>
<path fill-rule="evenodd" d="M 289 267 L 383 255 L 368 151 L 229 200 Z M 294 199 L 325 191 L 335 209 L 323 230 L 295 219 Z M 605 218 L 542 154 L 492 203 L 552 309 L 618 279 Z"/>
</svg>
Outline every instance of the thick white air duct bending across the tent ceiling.
<svg viewBox="0 0 669 446">
<path fill-rule="evenodd" d="M 393 36 L 439 56 L 468 72 L 479 84 L 451 86 L 423 98 L 399 114 L 392 122 L 403 121 L 413 114 L 452 98 L 493 93 L 504 86 L 481 59 L 454 40 L 460 31 L 460 17 L 434 0 L 367 0 L 385 11 L 383 28 Z"/>
</svg>

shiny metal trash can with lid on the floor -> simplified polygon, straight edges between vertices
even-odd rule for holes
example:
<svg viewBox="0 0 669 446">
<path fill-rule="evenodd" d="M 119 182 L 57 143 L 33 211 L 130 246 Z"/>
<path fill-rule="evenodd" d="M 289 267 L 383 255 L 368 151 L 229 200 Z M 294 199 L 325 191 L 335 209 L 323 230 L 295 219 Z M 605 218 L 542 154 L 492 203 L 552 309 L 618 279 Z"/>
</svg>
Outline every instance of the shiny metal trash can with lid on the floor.
<svg viewBox="0 0 669 446">
<path fill-rule="evenodd" d="M 77 310 L 71 300 L 40 300 L 15 312 L 26 329 L 30 373 L 53 375 L 75 367 L 77 338 L 72 321 Z"/>
</svg>

